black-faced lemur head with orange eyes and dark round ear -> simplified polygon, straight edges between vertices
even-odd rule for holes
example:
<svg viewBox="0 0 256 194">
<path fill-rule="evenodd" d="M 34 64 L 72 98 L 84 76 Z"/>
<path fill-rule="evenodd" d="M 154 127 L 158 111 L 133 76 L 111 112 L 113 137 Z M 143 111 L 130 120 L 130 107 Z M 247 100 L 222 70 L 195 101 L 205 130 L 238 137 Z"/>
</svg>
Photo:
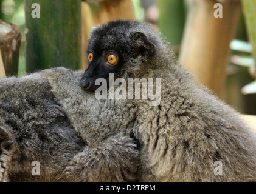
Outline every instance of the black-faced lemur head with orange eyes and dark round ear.
<svg viewBox="0 0 256 194">
<path fill-rule="evenodd" d="M 159 35 L 138 21 L 119 20 L 92 28 L 87 50 L 89 67 L 80 87 L 94 92 L 99 87 L 95 80 L 108 81 L 109 73 L 114 73 L 115 79 L 125 75 L 140 78 L 152 64 L 158 41 Z"/>
</svg>

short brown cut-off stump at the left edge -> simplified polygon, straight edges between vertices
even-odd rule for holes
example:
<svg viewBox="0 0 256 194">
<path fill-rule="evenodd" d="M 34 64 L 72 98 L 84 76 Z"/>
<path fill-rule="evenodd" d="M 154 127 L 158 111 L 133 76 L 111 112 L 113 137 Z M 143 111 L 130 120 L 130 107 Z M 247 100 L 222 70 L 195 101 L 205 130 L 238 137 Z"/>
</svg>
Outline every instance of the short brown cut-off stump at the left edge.
<svg viewBox="0 0 256 194">
<path fill-rule="evenodd" d="M 19 28 L 0 20 L 0 50 L 7 76 L 18 74 L 20 45 L 21 33 Z"/>
</svg>

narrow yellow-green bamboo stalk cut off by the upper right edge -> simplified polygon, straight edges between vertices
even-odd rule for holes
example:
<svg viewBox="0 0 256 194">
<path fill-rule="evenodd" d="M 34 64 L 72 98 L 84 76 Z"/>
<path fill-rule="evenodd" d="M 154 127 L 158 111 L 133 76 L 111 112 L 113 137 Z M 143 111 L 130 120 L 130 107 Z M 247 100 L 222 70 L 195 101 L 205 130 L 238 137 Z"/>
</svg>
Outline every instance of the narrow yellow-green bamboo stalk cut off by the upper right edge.
<svg viewBox="0 0 256 194">
<path fill-rule="evenodd" d="M 242 0 L 242 2 L 247 34 L 252 44 L 254 61 L 256 61 L 256 0 Z M 256 67 L 254 68 L 254 73 L 256 75 Z"/>
</svg>

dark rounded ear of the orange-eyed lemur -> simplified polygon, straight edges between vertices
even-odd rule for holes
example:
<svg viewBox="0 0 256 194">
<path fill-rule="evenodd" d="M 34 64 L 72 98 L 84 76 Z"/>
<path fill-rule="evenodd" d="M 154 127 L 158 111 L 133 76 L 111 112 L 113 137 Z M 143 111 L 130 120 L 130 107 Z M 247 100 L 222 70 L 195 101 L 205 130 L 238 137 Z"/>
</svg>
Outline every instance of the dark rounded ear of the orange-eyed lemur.
<svg viewBox="0 0 256 194">
<path fill-rule="evenodd" d="M 147 36 L 142 32 L 135 32 L 131 34 L 131 38 L 135 42 L 137 55 L 152 55 L 154 53 L 154 44 L 148 41 Z"/>
</svg>

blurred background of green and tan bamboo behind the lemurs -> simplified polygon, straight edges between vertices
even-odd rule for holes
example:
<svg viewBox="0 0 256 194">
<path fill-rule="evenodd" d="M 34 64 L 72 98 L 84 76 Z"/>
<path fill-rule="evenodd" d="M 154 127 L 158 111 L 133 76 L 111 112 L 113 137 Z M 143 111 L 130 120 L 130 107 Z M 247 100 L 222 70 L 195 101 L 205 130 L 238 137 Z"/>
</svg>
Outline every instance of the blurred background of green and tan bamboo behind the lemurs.
<svg viewBox="0 0 256 194">
<path fill-rule="evenodd" d="M 40 18 L 32 17 L 34 3 L 40 5 Z M 86 69 L 92 26 L 138 19 L 162 33 L 199 82 L 239 112 L 256 115 L 255 0 L 0 0 L 0 10 L 7 76 L 61 65 Z M 16 25 L 22 35 L 12 65 L 1 48 L 4 22 Z"/>
</svg>

